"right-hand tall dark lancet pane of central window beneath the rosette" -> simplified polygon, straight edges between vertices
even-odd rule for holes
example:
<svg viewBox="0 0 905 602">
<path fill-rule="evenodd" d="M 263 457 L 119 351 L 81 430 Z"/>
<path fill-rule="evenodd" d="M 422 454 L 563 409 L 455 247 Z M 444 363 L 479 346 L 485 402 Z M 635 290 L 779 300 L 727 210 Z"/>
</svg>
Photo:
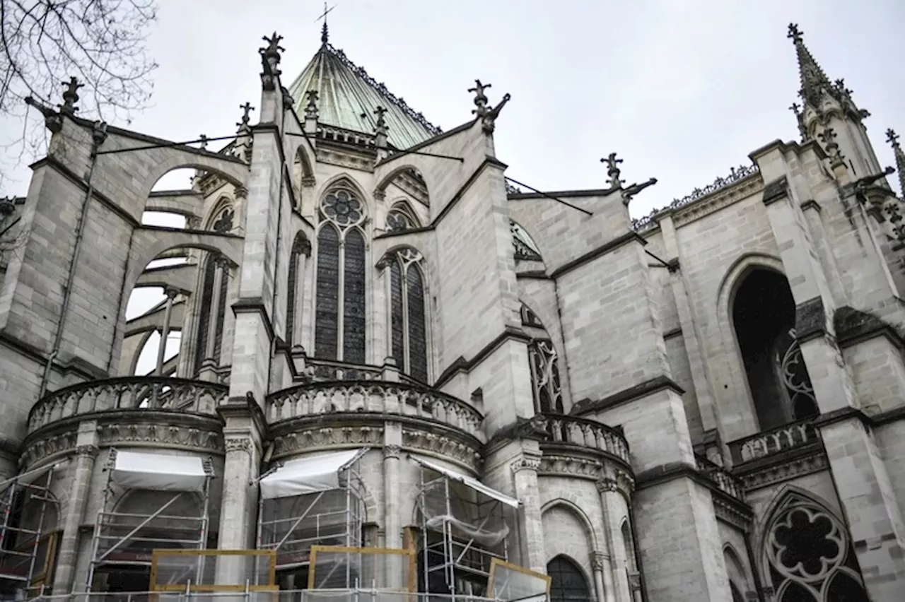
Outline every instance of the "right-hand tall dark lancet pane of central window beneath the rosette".
<svg viewBox="0 0 905 602">
<path fill-rule="evenodd" d="M 343 266 L 343 361 L 365 362 L 365 237 L 346 233 Z"/>
</svg>

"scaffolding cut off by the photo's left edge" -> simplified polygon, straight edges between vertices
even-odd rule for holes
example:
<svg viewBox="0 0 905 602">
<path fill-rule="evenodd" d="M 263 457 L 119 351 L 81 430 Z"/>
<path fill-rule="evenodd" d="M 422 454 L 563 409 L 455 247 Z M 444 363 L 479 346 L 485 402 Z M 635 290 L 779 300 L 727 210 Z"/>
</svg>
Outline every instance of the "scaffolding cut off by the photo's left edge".
<svg viewBox="0 0 905 602">
<path fill-rule="evenodd" d="M 0 596 L 16 590 L 43 590 L 52 571 L 56 534 L 44 531 L 56 526 L 48 520 L 48 513 L 54 511 L 48 504 L 52 504 L 55 467 L 20 475 L 0 491 Z"/>
</svg>

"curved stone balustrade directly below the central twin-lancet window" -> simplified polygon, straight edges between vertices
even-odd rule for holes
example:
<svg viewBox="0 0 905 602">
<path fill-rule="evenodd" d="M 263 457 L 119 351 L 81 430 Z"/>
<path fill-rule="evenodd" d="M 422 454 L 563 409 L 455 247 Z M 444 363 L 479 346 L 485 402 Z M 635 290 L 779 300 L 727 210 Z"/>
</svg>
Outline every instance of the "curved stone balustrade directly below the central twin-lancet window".
<svg viewBox="0 0 905 602">
<path fill-rule="evenodd" d="M 477 409 L 452 395 L 404 382 L 341 381 L 308 383 L 273 393 L 267 399 L 267 421 L 325 414 L 385 414 L 428 419 L 465 431 L 483 441 Z"/>
</svg>

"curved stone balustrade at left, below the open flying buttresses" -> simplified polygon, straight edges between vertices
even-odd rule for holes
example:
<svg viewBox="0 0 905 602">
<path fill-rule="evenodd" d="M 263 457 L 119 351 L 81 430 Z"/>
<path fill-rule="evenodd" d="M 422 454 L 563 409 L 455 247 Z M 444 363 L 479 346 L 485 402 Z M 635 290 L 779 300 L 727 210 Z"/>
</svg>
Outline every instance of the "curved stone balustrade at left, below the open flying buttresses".
<svg viewBox="0 0 905 602">
<path fill-rule="evenodd" d="M 28 432 L 60 419 L 110 409 L 158 409 L 214 415 L 228 389 L 219 383 L 155 376 L 88 381 L 55 390 L 34 404 Z"/>
</svg>

